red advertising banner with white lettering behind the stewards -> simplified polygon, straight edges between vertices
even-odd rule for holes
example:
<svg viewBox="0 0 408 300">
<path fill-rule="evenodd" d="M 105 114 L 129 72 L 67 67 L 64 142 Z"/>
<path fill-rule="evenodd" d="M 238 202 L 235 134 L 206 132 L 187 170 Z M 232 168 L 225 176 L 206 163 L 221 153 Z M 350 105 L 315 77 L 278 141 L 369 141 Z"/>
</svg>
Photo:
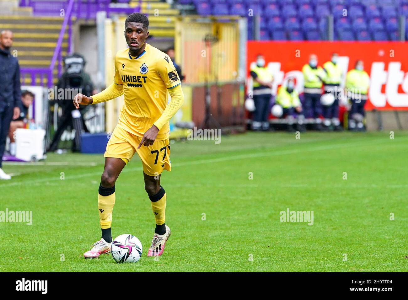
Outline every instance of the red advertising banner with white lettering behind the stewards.
<svg viewBox="0 0 408 300">
<path fill-rule="evenodd" d="M 316 54 L 322 66 L 333 52 L 339 53 L 343 87 L 347 71 L 357 60 L 364 61 L 370 76 L 366 109 L 408 110 L 408 42 L 248 41 L 248 76 L 251 63 L 262 54 L 273 72 L 274 93 L 288 77 L 296 78 L 297 91 L 302 93 L 301 70 L 309 55 Z"/>
</svg>

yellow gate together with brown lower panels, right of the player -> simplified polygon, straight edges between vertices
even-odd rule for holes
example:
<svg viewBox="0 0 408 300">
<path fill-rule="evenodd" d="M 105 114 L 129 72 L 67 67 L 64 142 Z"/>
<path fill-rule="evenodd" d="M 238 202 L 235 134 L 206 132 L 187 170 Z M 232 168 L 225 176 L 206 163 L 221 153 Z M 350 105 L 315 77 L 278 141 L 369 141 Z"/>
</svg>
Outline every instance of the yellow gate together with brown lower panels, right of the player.
<svg viewBox="0 0 408 300">
<path fill-rule="evenodd" d="M 246 26 L 237 16 L 182 16 L 175 22 L 175 60 L 198 128 L 244 130 Z"/>
</svg>

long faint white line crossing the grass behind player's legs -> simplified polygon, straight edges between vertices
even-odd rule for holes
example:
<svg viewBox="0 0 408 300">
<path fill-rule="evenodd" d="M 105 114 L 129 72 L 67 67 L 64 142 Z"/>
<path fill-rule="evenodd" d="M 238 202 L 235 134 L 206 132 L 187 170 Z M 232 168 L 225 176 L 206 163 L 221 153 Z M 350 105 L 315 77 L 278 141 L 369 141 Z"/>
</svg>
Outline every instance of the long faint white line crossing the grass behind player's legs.
<svg viewBox="0 0 408 300">
<path fill-rule="evenodd" d="M 388 141 L 387 141 L 388 142 Z M 370 143 L 379 143 L 377 140 L 373 140 Z M 292 154 L 292 153 L 301 153 L 301 152 L 310 152 L 310 151 L 319 151 L 319 150 L 328 150 L 328 149 L 333 149 L 333 148 L 344 148 L 344 147 L 350 147 L 353 144 L 360 144 L 360 142 L 349 142 L 349 143 L 343 143 L 343 144 L 330 144 L 330 145 L 325 145 L 325 146 L 318 146 L 318 147 L 312 147 L 309 149 L 293 149 L 293 150 L 281 150 L 281 151 L 275 151 L 275 152 L 260 152 L 260 153 L 251 153 L 251 154 L 241 154 L 241 155 L 235 155 L 235 156 L 227 156 L 227 157 L 222 157 L 222 158 L 210 158 L 210 159 L 204 159 L 204 160 L 194 160 L 194 161 L 189 161 L 189 162 L 180 162 L 177 164 L 172 164 L 173 167 L 184 167 L 184 166 L 190 166 L 194 164 L 209 164 L 209 163 L 214 163 L 214 162 L 224 162 L 228 160 L 241 160 L 241 159 L 247 159 L 247 158 L 257 158 L 257 157 L 266 157 L 266 156 L 276 156 L 276 155 L 283 155 L 283 154 Z M 142 171 L 142 167 L 128 167 L 123 169 L 121 173 L 127 173 L 130 171 Z M 71 179 L 78 179 L 78 178 L 84 178 L 88 176 L 101 176 L 102 175 L 102 170 L 98 172 L 91 172 L 91 173 L 84 173 L 84 174 L 79 174 L 75 176 L 67 176 L 65 175 L 64 180 L 71 180 Z M 55 176 L 55 178 L 40 178 L 37 180 L 30 180 L 30 181 L 24 181 L 24 182 L 10 182 L 6 184 L 0 184 L 0 187 L 10 187 L 10 186 L 15 186 L 15 185 L 28 185 L 28 184 L 36 184 L 38 185 L 40 182 L 47 182 L 47 181 L 58 181 L 61 180 L 58 176 Z"/>
</svg>

